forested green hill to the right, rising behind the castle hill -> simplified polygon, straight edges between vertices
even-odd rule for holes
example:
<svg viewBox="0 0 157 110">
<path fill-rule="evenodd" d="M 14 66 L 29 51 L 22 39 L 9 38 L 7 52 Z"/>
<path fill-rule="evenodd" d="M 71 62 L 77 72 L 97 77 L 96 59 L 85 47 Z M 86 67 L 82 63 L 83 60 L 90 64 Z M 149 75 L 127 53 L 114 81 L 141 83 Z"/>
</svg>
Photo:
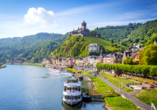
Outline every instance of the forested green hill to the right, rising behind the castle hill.
<svg viewBox="0 0 157 110">
<path fill-rule="evenodd" d="M 96 28 L 95 31 L 101 34 L 101 37 L 125 46 L 133 43 L 146 44 L 151 35 L 156 32 L 149 32 L 152 28 L 157 27 L 157 20 L 147 21 L 146 23 L 129 23 L 124 26 L 106 26 Z M 151 34 L 150 34 L 151 33 Z"/>
</svg>

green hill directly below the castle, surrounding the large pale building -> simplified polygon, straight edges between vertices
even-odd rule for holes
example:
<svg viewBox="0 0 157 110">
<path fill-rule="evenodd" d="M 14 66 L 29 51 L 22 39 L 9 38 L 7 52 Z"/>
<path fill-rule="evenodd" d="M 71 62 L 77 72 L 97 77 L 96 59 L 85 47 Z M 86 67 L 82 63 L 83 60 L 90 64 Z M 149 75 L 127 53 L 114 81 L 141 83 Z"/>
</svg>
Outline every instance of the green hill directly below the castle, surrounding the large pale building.
<svg viewBox="0 0 157 110">
<path fill-rule="evenodd" d="M 90 55 L 88 45 L 91 43 L 100 44 L 102 53 L 121 52 L 126 49 L 125 46 L 112 45 L 111 42 L 97 37 L 68 36 L 66 41 L 53 52 L 52 57 L 86 57 Z"/>
</svg>

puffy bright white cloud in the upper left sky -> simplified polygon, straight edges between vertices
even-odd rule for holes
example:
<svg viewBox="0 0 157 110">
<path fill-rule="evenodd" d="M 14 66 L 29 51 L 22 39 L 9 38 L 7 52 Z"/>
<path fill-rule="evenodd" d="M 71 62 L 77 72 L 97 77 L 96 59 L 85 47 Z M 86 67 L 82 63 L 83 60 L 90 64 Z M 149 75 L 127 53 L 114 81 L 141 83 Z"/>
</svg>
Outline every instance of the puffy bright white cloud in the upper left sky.
<svg viewBox="0 0 157 110">
<path fill-rule="evenodd" d="M 42 7 L 29 8 L 27 14 L 24 16 L 26 24 L 30 25 L 51 25 L 56 26 L 55 15 L 52 11 L 47 11 Z"/>
</svg>

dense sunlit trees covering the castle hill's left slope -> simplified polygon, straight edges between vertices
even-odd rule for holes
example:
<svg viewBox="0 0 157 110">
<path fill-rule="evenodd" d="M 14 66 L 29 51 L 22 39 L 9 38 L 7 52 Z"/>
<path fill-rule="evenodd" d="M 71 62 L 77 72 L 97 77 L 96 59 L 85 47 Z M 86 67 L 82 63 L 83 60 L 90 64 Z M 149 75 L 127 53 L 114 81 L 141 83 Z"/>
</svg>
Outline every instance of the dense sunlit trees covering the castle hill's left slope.
<svg viewBox="0 0 157 110">
<path fill-rule="evenodd" d="M 62 57 L 86 57 L 88 56 L 88 46 L 79 36 L 67 37 L 66 41 L 53 52 L 53 56 Z"/>
</svg>

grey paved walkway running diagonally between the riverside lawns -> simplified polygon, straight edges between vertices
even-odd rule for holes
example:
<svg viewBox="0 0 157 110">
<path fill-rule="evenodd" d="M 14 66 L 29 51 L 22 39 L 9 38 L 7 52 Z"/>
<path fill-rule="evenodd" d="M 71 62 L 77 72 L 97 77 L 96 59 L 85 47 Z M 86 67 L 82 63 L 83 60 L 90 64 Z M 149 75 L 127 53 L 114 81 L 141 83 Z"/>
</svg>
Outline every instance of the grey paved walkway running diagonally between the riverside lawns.
<svg viewBox="0 0 157 110">
<path fill-rule="evenodd" d="M 105 83 L 107 83 L 109 86 L 111 86 L 114 90 L 119 90 L 118 87 L 116 87 L 115 85 L 113 85 L 112 83 L 110 83 L 110 82 L 109 82 L 108 80 L 106 80 L 104 77 L 102 77 L 102 76 L 98 76 L 98 77 L 99 77 L 100 79 L 102 79 Z M 138 92 L 140 92 L 140 91 L 136 90 L 133 94 L 129 94 L 129 93 L 123 91 L 122 95 L 123 95 L 124 97 L 126 97 L 127 99 L 129 99 L 131 102 L 133 102 L 133 103 L 134 103 L 135 105 L 137 105 L 138 107 L 140 107 L 140 108 L 142 108 L 142 109 L 144 109 L 144 110 L 151 110 L 151 106 L 149 106 L 149 105 L 147 105 L 147 104 L 141 102 L 140 100 L 138 100 L 138 99 L 134 96 L 134 94 L 137 94 Z"/>
</svg>

